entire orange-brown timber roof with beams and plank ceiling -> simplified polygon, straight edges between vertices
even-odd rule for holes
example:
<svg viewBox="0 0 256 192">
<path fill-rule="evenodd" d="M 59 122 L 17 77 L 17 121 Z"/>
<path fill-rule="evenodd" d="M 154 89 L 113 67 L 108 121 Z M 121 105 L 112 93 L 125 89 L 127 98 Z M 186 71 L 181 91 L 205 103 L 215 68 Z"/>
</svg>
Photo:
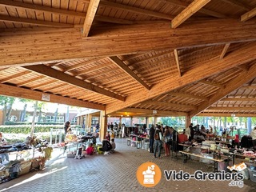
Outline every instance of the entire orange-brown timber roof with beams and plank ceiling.
<svg viewBox="0 0 256 192">
<path fill-rule="evenodd" d="M 0 0 L 0 94 L 253 117 L 255 15 L 256 0 Z"/>
</svg>

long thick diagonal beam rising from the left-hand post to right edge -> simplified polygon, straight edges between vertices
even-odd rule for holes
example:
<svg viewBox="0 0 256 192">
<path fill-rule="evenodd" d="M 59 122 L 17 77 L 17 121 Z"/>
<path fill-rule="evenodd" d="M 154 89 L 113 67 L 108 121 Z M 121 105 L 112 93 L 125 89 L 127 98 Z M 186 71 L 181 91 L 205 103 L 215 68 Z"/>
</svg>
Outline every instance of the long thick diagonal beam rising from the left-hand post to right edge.
<svg viewBox="0 0 256 192">
<path fill-rule="evenodd" d="M 248 50 L 246 49 L 246 47 L 248 48 Z M 145 90 L 141 90 L 139 93 L 130 94 L 128 97 L 126 97 L 126 102 L 113 102 L 108 104 L 106 106 L 106 114 L 121 110 L 128 106 L 133 106 L 136 103 L 145 101 L 150 98 L 154 98 L 160 94 L 167 94 L 171 90 L 175 90 L 178 87 L 186 86 L 192 82 L 196 82 L 201 79 L 210 77 L 214 74 L 222 73 L 222 71 L 224 72 L 226 70 L 229 70 L 234 66 L 239 66 L 243 63 L 254 61 L 256 59 L 255 49 L 256 42 L 254 43 L 254 46 L 246 45 L 240 50 L 234 50 L 223 59 L 215 58 L 210 59 L 208 62 L 198 63 L 193 69 L 183 74 L 182 77 L 170 77 L 166 79 L 166 81 L 162 81 L 156 84 L 151 88 L 150 93 L 147 93 L 147 91 Z M 246 78 L 247 75 L 243 79 Z M 225 91 L 229 89 L 230 87 L 226 87 Z M 202 108 L 202 110 L 204 110 L 205 108 L 206 107 Z M 200 111 L 201 110 L 198 110 L 198 113 Z M 197 113 L 194 113 L 194 115 L 195 114 Z"/>
</svg>

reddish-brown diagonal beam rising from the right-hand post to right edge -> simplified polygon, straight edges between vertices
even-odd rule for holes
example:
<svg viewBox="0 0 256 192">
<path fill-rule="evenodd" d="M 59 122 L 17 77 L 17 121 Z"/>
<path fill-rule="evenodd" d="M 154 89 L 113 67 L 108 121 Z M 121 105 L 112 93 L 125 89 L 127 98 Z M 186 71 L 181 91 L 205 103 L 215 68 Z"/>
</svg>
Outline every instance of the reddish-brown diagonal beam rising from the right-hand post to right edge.
<svg viewBox="0 0 256 192">
<path fill-rule="evenodd" d="M 234 62 L 236 60 L 234 59 Z M 209 106 L 213 105 L 214 102 L 218 102 L 218 100 L 224 98 L 227 94 L 230 94 L 231 91 L 238 89 L 246 82 L 249 82 L 252 78 L 256 76 L 256 65 L 252 66 L 249 71 L 243 71 L 238 75 L 237 78 L 234 78 L 229 83 L 227 83 L 225 89 L 218 90 L 208 101 L 202 102 L 200 106 L 198 106 L 198 110 L 193 110 L 190 112 L 190 116 L 194 116 L 200 113 L 202 110 L 205 110 Z"/>
</svg>

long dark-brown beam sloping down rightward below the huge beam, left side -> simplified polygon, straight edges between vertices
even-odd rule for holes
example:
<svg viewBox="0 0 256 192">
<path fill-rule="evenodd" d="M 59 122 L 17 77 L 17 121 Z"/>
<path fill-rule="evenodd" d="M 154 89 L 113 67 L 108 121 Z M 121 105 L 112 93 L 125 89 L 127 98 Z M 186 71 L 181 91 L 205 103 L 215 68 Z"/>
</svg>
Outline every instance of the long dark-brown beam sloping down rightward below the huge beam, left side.
<svg viewBox="0 0 256 192">
<path fill-rule="evenodd" d="M 78 78 L 74 78 L 74 77 L 72 77 L 68 74 L 64 74 L 61 71 L 54 70 L 49 66 L 44 66 L 44 65 L 24 66 L 24 68 L 26 68 L 27 70 L 32 70 L 34 72 L 37 72 L 39 74 L 44 74 L 44 75 L 46 75 L 50 78 L 58 79 L 62 82 L 70 83 L 71 85 L 74 85 L 74 86 L 82 87 L 86 90 L 90 90 L 90 91 L 93 91 L 93 92 L 98 93 L 98 94 L 103 94 L 103 95 L 108 96 L 110 98 L 115 98 L 115 99 L 118 99 L 120 101 L 125 101 L 125 98 L 123 98 L 122 96 L 120 96 L 118 94 L 114 94 L 114 93 L 112 93 L 108 90 L 104 90 L 104 89 L 102 89 L 98 86 L 91 85 L 88 82 L 84 82 L 84 81 L 82 81 Z"/>
</svg>

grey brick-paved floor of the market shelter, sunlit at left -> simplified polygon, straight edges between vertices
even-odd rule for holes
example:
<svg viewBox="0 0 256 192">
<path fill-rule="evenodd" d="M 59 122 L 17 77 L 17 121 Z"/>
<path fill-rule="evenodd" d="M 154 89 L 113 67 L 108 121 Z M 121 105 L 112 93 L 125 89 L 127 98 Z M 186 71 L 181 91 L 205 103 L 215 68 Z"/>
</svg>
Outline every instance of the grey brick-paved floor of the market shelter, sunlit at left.
<svg viewBox="0 0 256 192">
<path fill-rule="evenodd" d="M 198 161 L 182 162 L 182 158 L 154 158 L 146 150 L 126 145 L 126 139 L 116 139 L 114 154 L 95 154 L 83 159 L 66 158 L 55 152 L 55 158 L 46 164 L 46 169 L 22 175 L 20 178 L 0 184 L 0 191 L 256 191 L 256 182 L 244 180 L 243 187 L 229 186 L 230 181 L 167 181 L 163 170 L 184 170 L 194 174 L 196 170 L 212 171 L 212 168 Z M 59 151 L 59 150 L 57 150 Z M 138 166 L 154 162 L 162 171 L 157 186 L 145 187 L 136 178 Z"/>
</svg>

